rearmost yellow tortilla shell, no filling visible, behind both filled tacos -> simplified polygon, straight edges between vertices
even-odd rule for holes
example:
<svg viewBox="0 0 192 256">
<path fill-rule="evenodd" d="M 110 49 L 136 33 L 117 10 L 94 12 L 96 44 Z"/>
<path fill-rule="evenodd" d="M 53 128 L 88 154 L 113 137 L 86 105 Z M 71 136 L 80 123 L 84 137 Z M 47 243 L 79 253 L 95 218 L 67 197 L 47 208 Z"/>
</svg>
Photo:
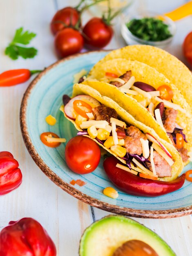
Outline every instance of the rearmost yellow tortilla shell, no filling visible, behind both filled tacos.
<svg viewBox="0 0 192 256">
<path fill-rule="evenodd" d="M 192 110 L 192 73 L 172 54 L 150 45 L 129 45 L 107 54 L 97 65 L 114 58 L 141 61 L 164 74 L 183 94 Z"/>
</svg>

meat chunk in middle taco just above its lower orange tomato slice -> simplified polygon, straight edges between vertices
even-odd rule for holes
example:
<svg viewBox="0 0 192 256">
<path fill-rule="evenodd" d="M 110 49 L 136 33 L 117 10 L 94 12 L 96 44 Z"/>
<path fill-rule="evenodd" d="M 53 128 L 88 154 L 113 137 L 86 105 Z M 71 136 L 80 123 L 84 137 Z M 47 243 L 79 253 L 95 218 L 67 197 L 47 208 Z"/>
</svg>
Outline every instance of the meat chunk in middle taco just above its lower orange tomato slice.
<svg viewBox="0 0 192 256">
<path fill-rule="evenodd" d="M 172 133 L 174 131 L 174 128 L 176 127 L 176 115 L 177 110 L 174 110 L 173 108 L 167 108 L 165 110 L 162 121 L 166 132 Z"/>
</svg>

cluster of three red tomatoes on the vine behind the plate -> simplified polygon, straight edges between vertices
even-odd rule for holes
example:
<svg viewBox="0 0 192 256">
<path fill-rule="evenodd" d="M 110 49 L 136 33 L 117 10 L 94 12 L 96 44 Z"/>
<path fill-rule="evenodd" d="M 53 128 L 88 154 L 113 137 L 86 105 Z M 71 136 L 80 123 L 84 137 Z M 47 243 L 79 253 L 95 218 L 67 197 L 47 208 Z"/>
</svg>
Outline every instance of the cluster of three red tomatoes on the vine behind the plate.
<svg viewBox="0 0 192 256">
<path fill-rule="evenodd" d="M 51 21 L 55 35 L 55 49 L 60 58 L 80 52 L 83 46 L 91 49 L 105 47 L 113 36 L 113 29 L 103 18 L 94 17 L 81 26 L 81 12 L 65 7 L 56 12 Z"/>
</svg>

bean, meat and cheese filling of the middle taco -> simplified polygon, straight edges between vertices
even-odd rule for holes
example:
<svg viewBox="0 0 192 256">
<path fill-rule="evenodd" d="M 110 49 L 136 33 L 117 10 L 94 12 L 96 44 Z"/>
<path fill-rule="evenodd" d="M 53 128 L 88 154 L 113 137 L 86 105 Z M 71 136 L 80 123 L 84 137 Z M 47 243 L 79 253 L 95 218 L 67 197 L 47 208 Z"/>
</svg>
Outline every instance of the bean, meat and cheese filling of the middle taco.
<svg viewBox="0 0 192 256">
<path fill-rule="evenodd" d="M 84 80 L 87 79 L 84 77 Z M 168 85 L 161 85 L 156 90 L 152 85 L 147 83 L 135 82 L 136 79 L 132 76 L 132 70 L 128 70 L 119 77 L 117 74 L 105 72 L 105 77 L 99 80 L 116 86 L 118 90 L 136 99 L 138 103 L 145 107 L 156 119 L 157 123 L 165 128 L 167 135 L 181 155 L 183 162 L 188 161 L 188 150 L 183 147 L 184 141 L 188 141 L 185 134 L 183 134 L 183 129 L 176 124 L 178 111 L 185 113 L 185 110 L 178 104 L 172 103 L 174 94 Z M 138 150 L 138 152 L 140 151 Z M 158 159 L 156 153 L 154 157 Z M 157 161 L 155 162 L 157 163 Z"/>
</svg>

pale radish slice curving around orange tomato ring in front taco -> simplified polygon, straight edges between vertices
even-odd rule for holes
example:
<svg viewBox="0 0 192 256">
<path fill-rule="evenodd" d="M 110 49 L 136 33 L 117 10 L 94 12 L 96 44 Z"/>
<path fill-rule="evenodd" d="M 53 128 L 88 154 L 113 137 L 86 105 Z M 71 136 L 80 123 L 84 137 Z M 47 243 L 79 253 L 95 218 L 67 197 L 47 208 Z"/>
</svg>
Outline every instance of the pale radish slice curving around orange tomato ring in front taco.
<svg viewBox="0 0 192 256">
<path fill-rule="evenodd" d="M 94 106 L 99 106 L 100 103 L 99 101 L 97 101 L 96 99 L 94 99 L 93 97 L 89 96 L 89 95 L 78 95 L 76 97 L 74 97 L 73 99 L 71 99 L 64 107 L 64 112 L 65 115 L 67 117 L 69 117 L 72 120 L 75 120 L 74 115 L 73 115 L 73 102 L 75 100 L 80 100 L 83 101 L 85 99 L 85 102 L 88 103 L 88 101 L 90 102 L 90 106 L 94 105 Z"/>
</svg>

